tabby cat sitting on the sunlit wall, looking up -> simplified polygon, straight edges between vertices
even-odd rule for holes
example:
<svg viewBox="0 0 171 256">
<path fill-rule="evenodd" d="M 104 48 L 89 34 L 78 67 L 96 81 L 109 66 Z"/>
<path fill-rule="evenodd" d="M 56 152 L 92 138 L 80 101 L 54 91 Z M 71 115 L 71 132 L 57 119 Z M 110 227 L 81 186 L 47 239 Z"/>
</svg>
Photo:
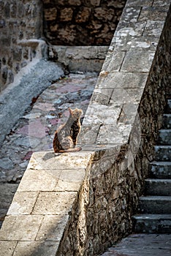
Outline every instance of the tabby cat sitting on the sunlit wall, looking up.
<svg viewBox="0 0 171 256">
<path fill-rule="evenodd" d="M 80 151 L 77 147 L 77 135 L 80 133 L 80 116 L 83 114 L 81 109 L 69 108 L 69 118 L 65 124 L 62 124 L 55 132 L 53 139 L 53 149 L 55 153 Z"/>
</svg>

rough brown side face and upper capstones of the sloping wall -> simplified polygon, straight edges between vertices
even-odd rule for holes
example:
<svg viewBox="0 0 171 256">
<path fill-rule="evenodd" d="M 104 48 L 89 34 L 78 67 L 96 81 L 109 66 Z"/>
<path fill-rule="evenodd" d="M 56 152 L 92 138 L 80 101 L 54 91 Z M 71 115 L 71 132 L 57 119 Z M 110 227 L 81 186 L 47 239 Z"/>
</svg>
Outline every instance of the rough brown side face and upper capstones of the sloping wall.
<svg viewBox="0 0 171 256">
<path fill-rule="evenodd" d="M 101 149 L 92 159 L 57 255 L 99 255 L 132 232 L 131 217 L 171 93 L 168 7 L 166 1 L 127 1 L 80 135 L 84 150 Z M 127 20 L 130 11 L 137 23 Z M 111 121 L 115 115 L 117 121 Z"/>
</svg>

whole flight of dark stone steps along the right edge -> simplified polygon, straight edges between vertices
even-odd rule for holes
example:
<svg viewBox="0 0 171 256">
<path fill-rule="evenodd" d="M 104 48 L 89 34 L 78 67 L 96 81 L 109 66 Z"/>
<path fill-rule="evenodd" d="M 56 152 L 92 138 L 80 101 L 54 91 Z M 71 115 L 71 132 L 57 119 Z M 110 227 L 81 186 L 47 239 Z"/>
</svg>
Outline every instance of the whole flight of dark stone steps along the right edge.
<svg viewBox="0 0 171 256">
<path fill-rule="evenodd" d="M 140 197 L 139 213 L 133 216 L 135 233 L 171 233 L 171 99 L 159 130 L 155 162 Z"/>
</svg>

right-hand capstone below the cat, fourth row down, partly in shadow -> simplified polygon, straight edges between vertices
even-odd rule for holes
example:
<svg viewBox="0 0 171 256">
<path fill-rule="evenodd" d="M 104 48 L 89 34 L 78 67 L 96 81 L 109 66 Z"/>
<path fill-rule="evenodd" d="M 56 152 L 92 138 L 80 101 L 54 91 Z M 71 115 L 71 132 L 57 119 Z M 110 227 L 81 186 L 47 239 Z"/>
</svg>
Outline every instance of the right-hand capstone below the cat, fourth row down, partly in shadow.
<svg viewBox="0 0 171 256">
<path fill-rule="evenodd" d="M 36 241 L 61 241 L 68 218 L 68 215 L 45 216 Z"/>
</svg>

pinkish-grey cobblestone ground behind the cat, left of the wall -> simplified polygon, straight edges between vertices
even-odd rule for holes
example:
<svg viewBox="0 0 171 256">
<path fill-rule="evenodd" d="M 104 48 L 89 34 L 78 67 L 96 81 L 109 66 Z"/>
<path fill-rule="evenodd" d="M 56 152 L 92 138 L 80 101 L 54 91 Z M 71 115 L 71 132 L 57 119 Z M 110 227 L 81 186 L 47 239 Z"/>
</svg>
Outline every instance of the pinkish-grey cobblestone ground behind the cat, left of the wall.
<svg viewBox="0 0 171 256">
<path fill-rule="evenodd" d="M 52 149 L 53 134 L 69 116 L 68 108 L 86 112 L 97 74 L 70 74 L 33 98 L 0 149 L 0 221 L 34 151 Z M 82 117 L 83 118 L 83 117 Z"/>
</svg>

